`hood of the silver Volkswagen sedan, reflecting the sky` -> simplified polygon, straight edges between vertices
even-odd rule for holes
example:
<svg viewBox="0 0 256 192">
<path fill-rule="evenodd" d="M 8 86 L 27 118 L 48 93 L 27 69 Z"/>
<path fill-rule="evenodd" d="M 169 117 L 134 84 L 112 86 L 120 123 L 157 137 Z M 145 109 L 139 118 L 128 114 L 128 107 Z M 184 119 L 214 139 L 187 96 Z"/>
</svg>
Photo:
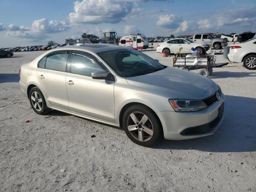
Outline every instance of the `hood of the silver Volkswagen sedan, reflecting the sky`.
<svg viewBox="0 0 256 192">
<path fill-rule="evenodd" d="M 142 76 L 126 78 L 128 84 L 160 92 L 172 99 L 202 100 L 214 94 L 218 86 L 209 78 L 167 67 Z"/>
</svg>

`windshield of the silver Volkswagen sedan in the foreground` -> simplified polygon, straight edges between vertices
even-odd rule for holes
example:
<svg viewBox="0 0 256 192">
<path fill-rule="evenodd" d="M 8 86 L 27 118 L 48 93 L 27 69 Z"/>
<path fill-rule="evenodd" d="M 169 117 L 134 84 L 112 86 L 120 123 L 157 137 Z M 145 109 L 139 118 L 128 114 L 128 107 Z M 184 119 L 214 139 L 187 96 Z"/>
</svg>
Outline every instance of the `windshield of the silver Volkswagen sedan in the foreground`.
<svg viewBox="0 0 256 192">
<path fill-rule="evenodd" d="M 137 50 L 114 50 L 98 55 L 121 77 L 134 77 L 166 68 Z"/>
</svg>

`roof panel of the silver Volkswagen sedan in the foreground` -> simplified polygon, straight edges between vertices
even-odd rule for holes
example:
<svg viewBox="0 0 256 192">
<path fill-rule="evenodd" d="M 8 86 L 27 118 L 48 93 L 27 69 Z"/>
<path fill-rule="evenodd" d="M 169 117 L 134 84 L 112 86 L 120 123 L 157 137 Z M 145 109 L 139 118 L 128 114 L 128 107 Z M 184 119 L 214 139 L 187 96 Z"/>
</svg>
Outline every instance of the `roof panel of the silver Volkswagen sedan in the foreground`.
<svg viewBox="0 0 256 192">
<path fill-rule="evenodd" d="M 84 44 L 84 45 L 72 45 L 72 46 L 60 47 L 54 50 L 81 50 L 81 51 L 100 53 L 105 51 L 122 50 L 122 49 L 130 49 L 130 48 L 125 46 L 113 45 L 113 44 Z"/>
</svg>

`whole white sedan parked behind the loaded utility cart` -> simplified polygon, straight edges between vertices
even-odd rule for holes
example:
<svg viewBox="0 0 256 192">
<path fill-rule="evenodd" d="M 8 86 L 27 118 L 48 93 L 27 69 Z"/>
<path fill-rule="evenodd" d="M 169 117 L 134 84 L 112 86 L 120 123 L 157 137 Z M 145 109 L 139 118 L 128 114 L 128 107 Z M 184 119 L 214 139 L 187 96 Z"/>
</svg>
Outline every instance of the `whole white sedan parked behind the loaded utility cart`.
<svg viewBox="0 0 256 192">
<path fill-rule="evenodd" d="M 182 48 L 181 53 L 191 53 L 191 49 L 198 49 L 202 54 L 209 50 L 209 45 L 203 42 L 194 42 L 190 39 L 171 39 L 161 44 L 158 44 L 156 51 L 158 53 L 167 52 L 168 54 L 177 53 Z"/>
</svg>

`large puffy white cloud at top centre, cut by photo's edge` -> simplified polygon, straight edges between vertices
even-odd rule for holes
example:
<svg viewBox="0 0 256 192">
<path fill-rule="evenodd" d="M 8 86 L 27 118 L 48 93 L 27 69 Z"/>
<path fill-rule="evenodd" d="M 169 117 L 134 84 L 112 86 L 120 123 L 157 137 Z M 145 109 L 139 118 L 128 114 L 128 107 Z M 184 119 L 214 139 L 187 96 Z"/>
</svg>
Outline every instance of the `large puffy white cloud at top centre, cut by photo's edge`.
<svg viewBox="0 0 256 192">
<path fill-rule="evenodd" d="M 132 10 L 132 2 L 120 0 L 83 0 L 74 3 L 70 23 L 119 23 Z"/>
</svg>

